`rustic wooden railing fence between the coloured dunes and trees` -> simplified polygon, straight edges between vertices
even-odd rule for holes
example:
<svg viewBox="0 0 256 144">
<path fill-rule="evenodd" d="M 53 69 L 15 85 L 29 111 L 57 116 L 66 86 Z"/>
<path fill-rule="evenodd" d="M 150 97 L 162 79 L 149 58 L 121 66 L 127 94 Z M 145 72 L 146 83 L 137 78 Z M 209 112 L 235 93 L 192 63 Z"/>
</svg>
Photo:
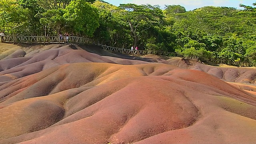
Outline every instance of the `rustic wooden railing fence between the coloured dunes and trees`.
<svg viewBox="0 0 256 144">
<path fill-rule="evenodd" d="M 5 43 L 39 43 L 39 44 L 62 44 L 62 43 L 76 43 L 76 44 L 95 44 L 101 46 L 103 50 L 108 52 L 119 52 L 122 54 L 132 54 L 132 55 L 145 55 L 149 54 L 146 50 L 130 50 L 127 48 L 115 48 L 112 46 L 106 46 L 102 44 L 97 44 L 94 40 L 90 38 L 81 38 L 77 36 L 69 36 L 68 42 L 64 42 L 64 36 L 61 38 L 60 36 L 4 36 L 0 37 L 1 42 Z M 161 56 L 170 56 L 176 55 L 176 53 L 172 52 L 162 52 L 156 51 L 154 54 L 161 55 Z"/>
</svg>

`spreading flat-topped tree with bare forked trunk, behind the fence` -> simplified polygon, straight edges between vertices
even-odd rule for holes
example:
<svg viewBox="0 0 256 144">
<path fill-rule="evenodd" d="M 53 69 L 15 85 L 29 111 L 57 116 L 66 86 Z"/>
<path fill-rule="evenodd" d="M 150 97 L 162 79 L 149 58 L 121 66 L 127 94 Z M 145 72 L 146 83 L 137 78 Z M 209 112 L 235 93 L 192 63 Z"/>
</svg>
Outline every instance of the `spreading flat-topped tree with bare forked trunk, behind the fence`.
<svg viewBox="0 0 256 144">
<path fill-rule="evenodd" d="M 141 34 L 154 25 L 162 22 L 163 13 L 158 6 L 136 5 L 136 4 L 120 4 L 120 8 L 124 11 L 116 16 L 120 21 L 120 26 L 127 30 L 128 34 L 133 38 L 133 46 L 138 45 Z"/>
</svg>

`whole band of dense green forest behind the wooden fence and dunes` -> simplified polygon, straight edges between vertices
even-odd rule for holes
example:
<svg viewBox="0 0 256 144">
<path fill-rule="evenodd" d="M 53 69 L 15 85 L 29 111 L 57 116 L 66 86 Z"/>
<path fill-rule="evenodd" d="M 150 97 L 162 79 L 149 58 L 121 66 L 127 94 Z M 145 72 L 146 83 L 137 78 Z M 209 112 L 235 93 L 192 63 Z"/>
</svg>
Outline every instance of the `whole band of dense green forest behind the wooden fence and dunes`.
<svg viewBox="0 0 256 144">
<path fill-rule="evenodd" d="M 256 3 L 252 4 L 256 6 Z M 176 52 L 236 66 L 256 66 L 256 8 L 120 4 L 102 0 L 1 0 L 0 31 L 8 35 L 91 38 L 119 48 Z"/>
</svg>

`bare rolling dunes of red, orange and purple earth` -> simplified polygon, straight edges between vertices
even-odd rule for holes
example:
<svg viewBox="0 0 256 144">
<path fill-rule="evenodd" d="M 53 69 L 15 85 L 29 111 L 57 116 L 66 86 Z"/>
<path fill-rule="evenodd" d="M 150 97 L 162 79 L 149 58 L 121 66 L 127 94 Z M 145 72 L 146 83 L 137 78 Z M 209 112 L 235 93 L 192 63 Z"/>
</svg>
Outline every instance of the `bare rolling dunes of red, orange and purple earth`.
<svg viewBox="0 0 256 144">
<path fill-rule="evenodd" d="M 256 69 L 0 43 L 0 144 L 256 142 Z"/>
</svg>

